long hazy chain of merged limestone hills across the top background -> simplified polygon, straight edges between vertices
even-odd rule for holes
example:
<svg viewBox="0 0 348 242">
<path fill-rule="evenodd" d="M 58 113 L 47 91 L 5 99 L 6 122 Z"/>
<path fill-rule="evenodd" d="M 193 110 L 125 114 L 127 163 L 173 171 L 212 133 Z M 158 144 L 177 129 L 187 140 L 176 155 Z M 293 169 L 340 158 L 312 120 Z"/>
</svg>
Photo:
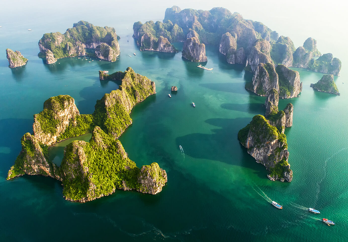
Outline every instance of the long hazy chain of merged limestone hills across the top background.
<svg viewBox="0 0 348 242">
<path fill-rule="evenodd" d="M 222 7 L 207 11 L 190 8 L 181 10 L 173 6 L 166 9 L 163 23 L 136 22 L 133 30 L 133 37 L 137 39 L 141 50 L 163 51 L 156 42 L 161 38 L 166 39 L 167 46 L 171 46 L 172 42 L 184 42 L 195 37 L 204 45 L 219 47 L 228 63 L 244 64 L 246 70 L 252 72 L 259 63 L 302 67 L 333 75 L 339 75 L 341 70 L 341 61 L 331 53 L 321 55 L 315 39 L 308 38 L 303 46 L 296 49 L 289 37 L 279 37 L 276 31 L 263 23 L 244 19 L 239 13 L 232 14 Z M 188 49 L 183 49 L 183 52 L 188 53 Z M 205 51 L 190 55 L 205 55 Z M 320 57 L 315 59 L 317 56 Z"/>
</svg>

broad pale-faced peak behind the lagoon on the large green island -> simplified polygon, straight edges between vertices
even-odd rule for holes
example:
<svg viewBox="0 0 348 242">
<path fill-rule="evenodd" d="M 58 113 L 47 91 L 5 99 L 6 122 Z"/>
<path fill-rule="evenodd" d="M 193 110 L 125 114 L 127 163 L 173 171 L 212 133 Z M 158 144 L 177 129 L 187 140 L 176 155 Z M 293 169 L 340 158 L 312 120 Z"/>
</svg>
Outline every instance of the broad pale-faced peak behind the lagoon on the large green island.
<svg viewBox="0 0 348 242">
<path fill-rule="evenodd" d="M 51 97 L 44 103 L 44 110 L 34 115 L 33 131 L 39 142 L 45 145 L 56 143 L 57 138 L 64 133 L 69 122 L 79 115 L 75 100 L 69 95 Z"/>
</svg>

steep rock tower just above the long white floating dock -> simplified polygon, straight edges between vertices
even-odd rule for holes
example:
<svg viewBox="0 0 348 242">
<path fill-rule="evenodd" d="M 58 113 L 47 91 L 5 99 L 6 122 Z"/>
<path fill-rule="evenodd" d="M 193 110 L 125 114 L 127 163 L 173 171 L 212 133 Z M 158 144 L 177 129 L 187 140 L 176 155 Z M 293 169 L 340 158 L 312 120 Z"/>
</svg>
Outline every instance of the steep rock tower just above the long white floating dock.
<svg viewBox="0 0 348 242">
<path fill-rule="evenodd" d="M 205 62 L 205 45 L 201 44 L 195 37 L 185 40 L 182 48 L 182 57 L 193 62 Z"/>
</svg>

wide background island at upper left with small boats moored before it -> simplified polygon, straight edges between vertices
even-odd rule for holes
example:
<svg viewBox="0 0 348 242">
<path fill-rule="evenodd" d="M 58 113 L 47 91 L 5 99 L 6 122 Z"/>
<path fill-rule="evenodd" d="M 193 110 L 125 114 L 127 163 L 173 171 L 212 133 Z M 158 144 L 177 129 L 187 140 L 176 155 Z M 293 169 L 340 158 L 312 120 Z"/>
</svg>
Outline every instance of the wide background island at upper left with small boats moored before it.
<svg viewBox="0 0 348 242">
<path fill-rule="evenodd" d="M 39 57 L 46 58 L 47 64 L 55 63 L 59 58 L 84 55 L 114 62 L 120 54 L 118 39 L 114 28 L 79 21 L 64 34 L 44 34 L 39 40 Z M 93 52 L 86 49 L 93 49 Z"/>
</svg>

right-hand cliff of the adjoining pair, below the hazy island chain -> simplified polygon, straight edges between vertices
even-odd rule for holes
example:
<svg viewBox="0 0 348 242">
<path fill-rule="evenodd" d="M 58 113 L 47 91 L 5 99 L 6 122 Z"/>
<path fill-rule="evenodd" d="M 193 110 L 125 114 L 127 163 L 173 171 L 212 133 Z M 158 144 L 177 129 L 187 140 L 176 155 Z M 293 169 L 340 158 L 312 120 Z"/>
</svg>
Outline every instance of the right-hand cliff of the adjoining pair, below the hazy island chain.
<svg viewBox="0 0 348 242">
<path fill-rule="evenodd" d="M 279 97 L 297 97 L 302 91 L 300 73 L 287 68 L 285 65 L 277 65 L 276 72 L 279 80 Z"/>
</svg>

